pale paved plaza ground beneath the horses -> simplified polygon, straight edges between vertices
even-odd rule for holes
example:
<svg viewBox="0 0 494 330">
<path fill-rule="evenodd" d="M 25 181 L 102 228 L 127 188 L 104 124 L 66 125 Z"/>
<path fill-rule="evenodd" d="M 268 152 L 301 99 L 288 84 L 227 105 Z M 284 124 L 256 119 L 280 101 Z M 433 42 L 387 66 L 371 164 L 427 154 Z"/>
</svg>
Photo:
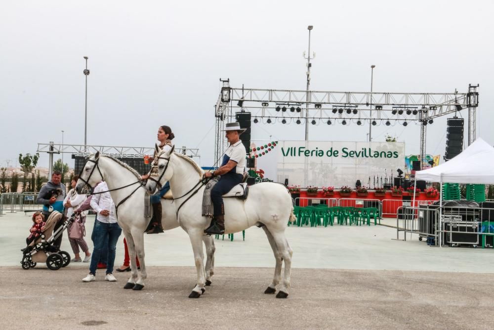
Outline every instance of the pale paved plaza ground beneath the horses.
<svg viewBox="0 0 494 330">
<path fill-rule="evenodd" d="M 82 283 L 87 263 L 58 271 L 22 270 L 30 227 L 23 213 L 0 216 L 0 324 L 26 329 L 40 320 L 54 329 L 490 329 L 494 249 L 429 247 L 401 241 L 387 226 L 289 227 L 293 249 L 288 299 L 262 292 L 274 257 L 261 229 L 216 240 L 215 275 L 200 299 L 187 298 L 196 280 L 188 236 L 177 228 L 145 236 L 148 279 L 142 291 L 118 282 Z M 87 220 L 90 236 L 94 217 Z M 385 220 L 393 225 L 396 220 Z M 403 234 L 401 234 L 403 236 Z M 123 261 L 123 236 L 116 266 Z M 408 238 L 409 239 L 409 238 Z M 90 247 L 92 243 L 88 240 Z M 62 249 L 72 254 L 64 234 Z M 49 320 L 49 321 L 48 321 Z"/>
</svg>

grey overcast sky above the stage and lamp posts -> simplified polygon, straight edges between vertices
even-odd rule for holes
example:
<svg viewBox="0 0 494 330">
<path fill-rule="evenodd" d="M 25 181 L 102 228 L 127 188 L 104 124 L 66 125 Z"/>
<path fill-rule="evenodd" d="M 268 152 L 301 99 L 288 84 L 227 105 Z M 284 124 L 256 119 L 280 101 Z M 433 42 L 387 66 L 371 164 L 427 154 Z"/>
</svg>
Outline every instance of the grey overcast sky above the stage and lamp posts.
<svg viewBox="0 0 494 330">
<path fill-rule="evenodd" d="M 211 165 L 219 78 L 232 87 L 467 92 L 480 84 L 477 136 L 494 143 L 494 2 L 456 1 L 2 1 L 0 165 L 37 143 L 152 146 L 160 125 Z M 460 113 L 467 117 L 466 110 Z M 303 140 L 303 125 L 253 124 L 252 139 Z M 212 129 L 211 129 L 212 128 Z M 419 126 L 377 126 L 418 153 Z M 427 127 L 444 154 L 446 118 Z M 368 126 L 310 127 L 311 140 L 366 141 Z M 55 159 L 59 156 L 55 156 Z M 69 156 L 65 157 L 67 160 Z M 43 154 L 40 166 L 47 166 Z M 73 166 L 72 162 L 69 162 Z"/>
</svg>

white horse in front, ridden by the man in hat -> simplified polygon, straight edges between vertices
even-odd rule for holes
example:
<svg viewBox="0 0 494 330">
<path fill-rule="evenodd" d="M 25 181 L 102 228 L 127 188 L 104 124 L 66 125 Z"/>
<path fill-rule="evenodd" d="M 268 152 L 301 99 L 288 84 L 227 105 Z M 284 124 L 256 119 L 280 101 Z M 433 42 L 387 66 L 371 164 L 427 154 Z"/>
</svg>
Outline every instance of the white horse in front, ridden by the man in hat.
<svg viewBox="0 0 494 330">
<path fill-rule="evenodd" d="M 185 195 L 175 200 L 175 207 L 178 223 L 189 234 L 196 262 L 197 285 L 189 298 L 199 298 L 206 283 L 201 237 L 211 219 L 202 216 L 204 187 L 199 190 L 193 188 L 197 187 L 203 175 L 203 170 L 189 157 L 174 153 L 173 149 L 166 152 L 156 145 L 155 161 L 151 168 L 152 180 L 148 180 L 146 189 L 153 193 L 158 182 L 164 185 L 169 181 L 170 188 L 177 196 Z M 284 279 L 276 297 L 288 297 L 292 250 L 285 237 L 285 229 L 288 221 L 295 220 L 288 190 L 277 183 L 260 183 L 249 187 L 249 195 L 245 201 L 224 198 L 224 205 L 225 234 L 241 232 L 255 225 L 262 226 L 276 259 L 273 282 L 264 293 L 276 292 L 276 285 L 281 280 L 282 262 L 285 262 Z"/>
</svg>

